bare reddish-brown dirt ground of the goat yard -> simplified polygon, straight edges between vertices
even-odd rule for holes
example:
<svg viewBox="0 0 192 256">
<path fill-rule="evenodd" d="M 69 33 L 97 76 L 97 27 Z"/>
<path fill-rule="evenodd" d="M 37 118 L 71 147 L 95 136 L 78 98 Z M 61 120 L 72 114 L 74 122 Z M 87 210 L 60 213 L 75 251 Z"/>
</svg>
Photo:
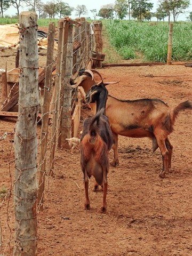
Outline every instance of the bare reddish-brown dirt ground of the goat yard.
<svg viewBox="0 0 192 256">
<path fill-rule="evenodd" d="M 12 55 L 13 50 L 9 50 Z M 5 55 L 4 53 L 1 53 Z M 0 68 L 14 67 L 12 57 L 0 57 Z M 42 65 L 43 66 L 43 65 Z M 170 107 L 191 99 L 191 71 L 185 66 L 108 67 L 98 70 L 109 94 L 120 99 L 158 98 Z M 82 121 L 91 110 L 82 105 Z M 83 173 L 79 151 L 58 149 L 54 178 L 46 179 L 44 211 L 38 213 L 38 255 L 59 256 L 190 256 L 192 255 L 192 113 L 179 114 L 174 132 L 172 168 L 159 178 L 162 157 L 152 154 L 147 138 L 119 136 L 119 166 L 108 174 L 107 213 L 101 214 L 102 191 L 94 193 L 90 179 L 91 210 L 84 210 Z M 14 236 L 15 119 L 0 119 L 1 255 L 12 255 Z M 79 127 L 79 131 L 81 131 Z M 38 139 L 41 126 L 38 125 Z M 110 161 L 113 151 L 109 153 Z M 4 197 L 4 188 L 12 192 Z M 0 247 L 1 249 L 1 247 Z"/>
</svg>

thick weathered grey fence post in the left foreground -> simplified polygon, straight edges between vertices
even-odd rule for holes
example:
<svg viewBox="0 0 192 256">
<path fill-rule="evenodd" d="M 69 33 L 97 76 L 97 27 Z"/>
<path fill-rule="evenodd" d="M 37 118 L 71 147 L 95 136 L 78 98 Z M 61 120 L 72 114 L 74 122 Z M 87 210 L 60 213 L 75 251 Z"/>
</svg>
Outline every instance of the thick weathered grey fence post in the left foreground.
<svg viewBox="0 0 192 256">
<path fill-rule="evenodd" d="M 37 116 L 38 47 L 37 14 L 19 17 L 19 111 L 15 149 L 15 246 L 14 256 L 37 255 Z"/>
</svg>

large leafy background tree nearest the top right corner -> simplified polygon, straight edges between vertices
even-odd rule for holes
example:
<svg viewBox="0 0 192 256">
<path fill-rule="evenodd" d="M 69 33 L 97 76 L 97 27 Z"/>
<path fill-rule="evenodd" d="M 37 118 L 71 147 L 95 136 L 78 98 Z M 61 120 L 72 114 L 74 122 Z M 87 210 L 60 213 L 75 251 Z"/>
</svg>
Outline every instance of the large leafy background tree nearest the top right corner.
<svg viewBox="0 0 192 256">
<path fill-rule="evenodd" d="M 190 0 L 159 0 L 159 8 L 168 13 L 169 22 L 170 14 L 173 14 L 173 21 L 177 21 L 179 14 L 185 13 L 189 7 Z"/>
</svg>

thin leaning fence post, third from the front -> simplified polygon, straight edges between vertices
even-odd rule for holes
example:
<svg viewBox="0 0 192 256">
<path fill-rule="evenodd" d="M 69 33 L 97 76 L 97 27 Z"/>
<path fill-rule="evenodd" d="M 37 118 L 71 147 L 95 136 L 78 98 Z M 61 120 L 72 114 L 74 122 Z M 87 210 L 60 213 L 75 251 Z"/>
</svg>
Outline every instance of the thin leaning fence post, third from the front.
<svg viewBox="0 0 192 256">
<path fill-rule="evenodd" d="M 57 118 L 58 118 L 58 105 L 59 105 L 59 83 L 61 77 L 61 62 L 62 62 L 62 49 L 63 49 L 63 19 L 58 22 L 58 53 L 57 53 L 57 68 L 55 75 L 55 85 L 53 91 L 53 118 L 52 118 L 52 131 L 51 131 L 51 155 L 50 155 L 50 171 L 49 175 L 53 175 L 54 169 L 54 153 L 57 146 Z"/>
</svg>

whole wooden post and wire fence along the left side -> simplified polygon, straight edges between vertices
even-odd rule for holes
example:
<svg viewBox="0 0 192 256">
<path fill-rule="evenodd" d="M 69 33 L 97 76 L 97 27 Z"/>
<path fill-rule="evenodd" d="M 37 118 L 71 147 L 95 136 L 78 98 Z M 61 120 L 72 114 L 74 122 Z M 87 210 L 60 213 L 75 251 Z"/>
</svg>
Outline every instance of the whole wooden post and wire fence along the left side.
<svg viewBox="0 0 192 256">
<path fill-rule="evenodd" d="M 9 72 L 2 73 L 1 113 L 18 116 L 18 121 L 13 131 L 10 127 L 0 138 L 0 153 L 5 158 L 0 182 L 1 256 L 36 253 L 37 217 L 54 175 L 55 150 L 69 148 L 65 139 L 77 135 L 81 116 L 81 95 L 71 90 L 70 77 L 89 65 L 95 46 L 93 23 L 63 18 L 58 22 L 55 51 L 55 24 L 50 22 L 46 67 L 39 67 L 33 41 L 37 39 L 36 14 L 22 15 L 19 67 L 14 79 Z M 78 122 L 73 124 L 72 117 Z"/>
</svg>

